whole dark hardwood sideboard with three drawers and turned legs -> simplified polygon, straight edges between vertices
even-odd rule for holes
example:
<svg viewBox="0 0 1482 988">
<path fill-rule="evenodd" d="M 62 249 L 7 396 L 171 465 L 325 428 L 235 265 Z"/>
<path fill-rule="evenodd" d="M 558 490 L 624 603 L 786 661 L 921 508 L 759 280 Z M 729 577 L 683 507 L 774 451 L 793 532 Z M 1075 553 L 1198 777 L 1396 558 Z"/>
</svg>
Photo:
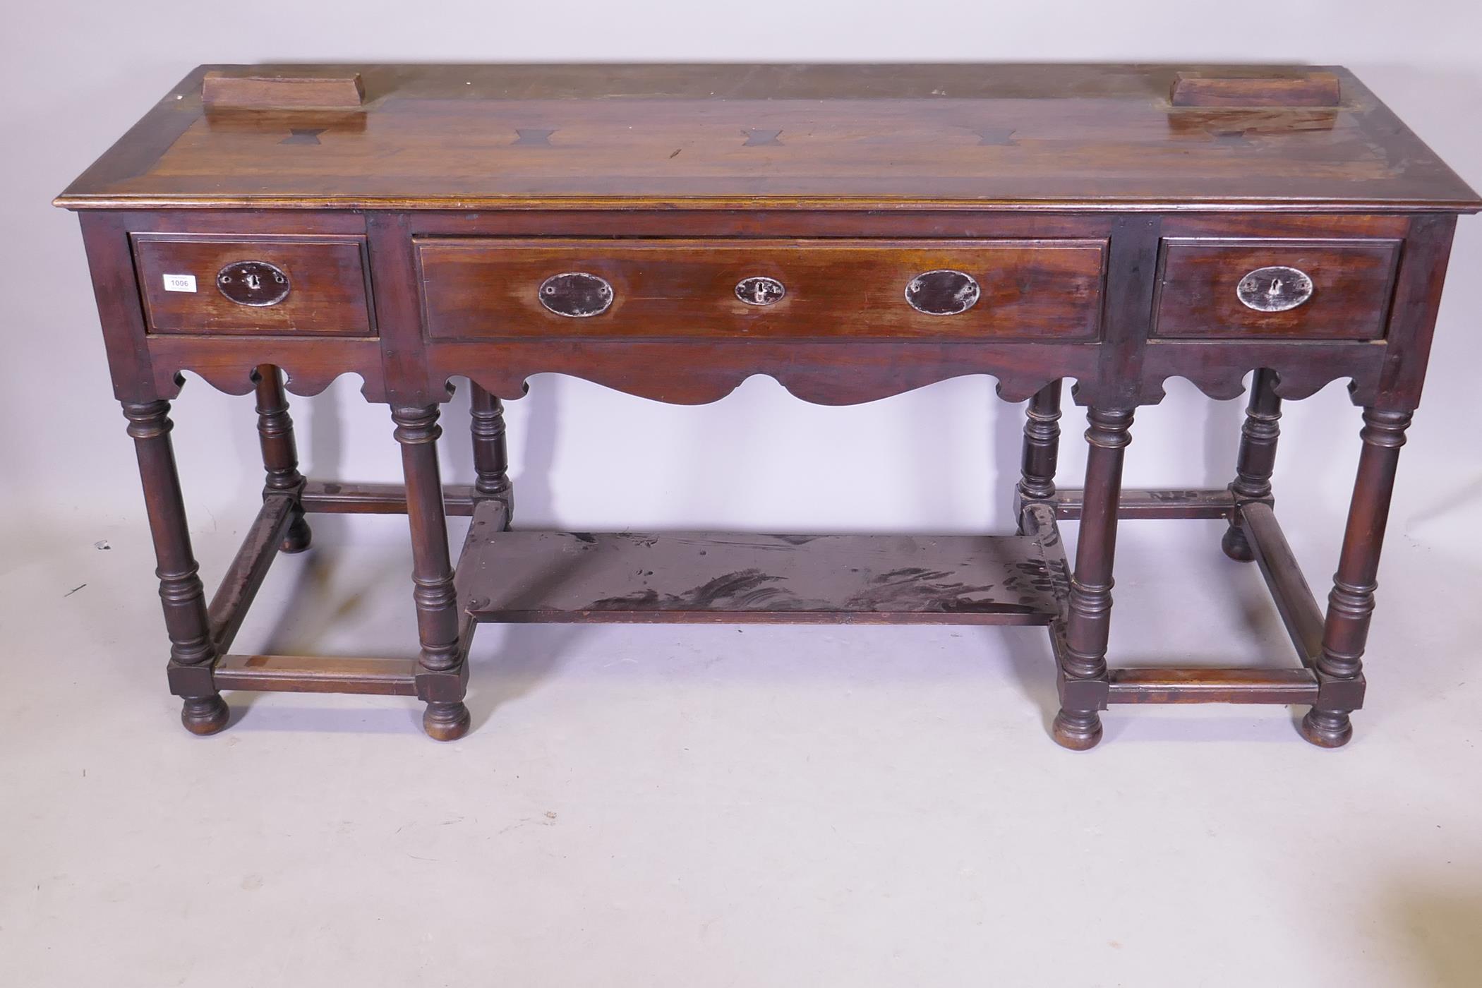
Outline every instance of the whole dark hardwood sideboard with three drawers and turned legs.
<svg viewBox="0 0 1482 988">
<path fill-rule="evenodd" d="M 488 621 L 963 622 L 1048 628 L 1069 748 L 1149 702 L 1309 707 L 1309 741 L 1349 739 L 1452 231 L 1482 209 L 1352 73 L 1197 65 L 202 67 L 56 203 L 82 219 L 190 730 L 227 724 L 222 690 L 301 690 L 416 696 L 428 735 L 462 736 Z M 255 393 L 267 470 L 209 600 L 170 446 L 184 370 Z M 679 404 L 754 373 L 827 404 L 991 375 L 1029 403 L 1018 530 L 511 530 L 501 401 L 542 372 Z M 1169 376 L 1232 398 L 1251 372 L 1229 487 L 1122 489 Z M 405 486 L 299 474 L 285 391 L 344 373 L 390 407 Z M 453 376 L 467 487 L 436 452 Z M 1077 490 L 1055 484 L 1067 378 Z M 1282 400 L 1334 379 L 1362 452 L 1323 610 L 1272 474 Z M 316 511 L 408 515 L 415 659 L 233 652 Z M 456 569 L 449 514 L 473 518 Z M 1120 518 L 1227 520 L 1294 659 L 1110 667 Z"/>
</svg>

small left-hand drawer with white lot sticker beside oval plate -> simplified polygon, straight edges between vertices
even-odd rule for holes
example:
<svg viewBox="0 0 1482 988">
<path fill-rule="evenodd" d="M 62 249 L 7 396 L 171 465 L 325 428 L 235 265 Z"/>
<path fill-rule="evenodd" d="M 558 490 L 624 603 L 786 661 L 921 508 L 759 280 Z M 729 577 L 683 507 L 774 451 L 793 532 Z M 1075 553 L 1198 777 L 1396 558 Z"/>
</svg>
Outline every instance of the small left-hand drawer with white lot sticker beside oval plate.
<svg viewBox="0 0 1482 988">
<path fill-rule="evenodd" d="M 373 336 L 363 237 L 135 234 L 153 333 Z"/>
</svg>

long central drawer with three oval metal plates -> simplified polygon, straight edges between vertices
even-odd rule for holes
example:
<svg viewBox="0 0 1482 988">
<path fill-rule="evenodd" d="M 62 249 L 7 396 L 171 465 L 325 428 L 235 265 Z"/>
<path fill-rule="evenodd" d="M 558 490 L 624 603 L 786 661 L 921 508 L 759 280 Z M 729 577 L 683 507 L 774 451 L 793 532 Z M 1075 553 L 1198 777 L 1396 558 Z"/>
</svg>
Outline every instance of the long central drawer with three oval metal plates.
<svg viewBox="0 0 1482 988">
<path fill-rule="evenodd" d="M 1094 341 L 1104 240 L 416 240 L 433 339 Z"/>
</svg>

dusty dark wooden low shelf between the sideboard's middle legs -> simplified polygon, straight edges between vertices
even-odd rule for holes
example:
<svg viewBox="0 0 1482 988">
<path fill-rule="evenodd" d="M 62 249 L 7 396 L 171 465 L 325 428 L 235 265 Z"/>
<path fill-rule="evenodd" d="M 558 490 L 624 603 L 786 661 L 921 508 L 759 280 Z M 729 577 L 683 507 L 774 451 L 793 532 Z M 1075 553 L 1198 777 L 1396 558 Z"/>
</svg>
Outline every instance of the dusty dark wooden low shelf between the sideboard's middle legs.
<svg viewBox="0 0 1482 988">
<path fill-rule="evenodd" d="M 1024 535 L 505 532 L 474 508 L 458 598 L 474 621 L 1049 624 L 1064 564 Z"/>
</svg>

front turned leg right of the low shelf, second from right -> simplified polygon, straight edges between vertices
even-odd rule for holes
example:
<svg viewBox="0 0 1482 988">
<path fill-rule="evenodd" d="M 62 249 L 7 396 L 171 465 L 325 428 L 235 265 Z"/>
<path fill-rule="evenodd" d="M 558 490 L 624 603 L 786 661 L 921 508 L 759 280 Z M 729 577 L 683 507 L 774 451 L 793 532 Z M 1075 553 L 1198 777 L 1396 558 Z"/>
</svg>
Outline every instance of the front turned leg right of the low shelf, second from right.
<svg viewBox="0 0 1482 988">
<path fill-rule="evenodd" d="M 1060 714 L 1055 741 L 1076 751 L 1101 741 L 1107 696 L 1107 635 L 1112 628 L 1112 561 L 1122 495 L 1122 455 L 1132 441 L 1132 412 L 1091 409 L 1086 441 L 1085 507 L 1070 578 L 1066 641 L 1060 662 Z"/>
</svg>

